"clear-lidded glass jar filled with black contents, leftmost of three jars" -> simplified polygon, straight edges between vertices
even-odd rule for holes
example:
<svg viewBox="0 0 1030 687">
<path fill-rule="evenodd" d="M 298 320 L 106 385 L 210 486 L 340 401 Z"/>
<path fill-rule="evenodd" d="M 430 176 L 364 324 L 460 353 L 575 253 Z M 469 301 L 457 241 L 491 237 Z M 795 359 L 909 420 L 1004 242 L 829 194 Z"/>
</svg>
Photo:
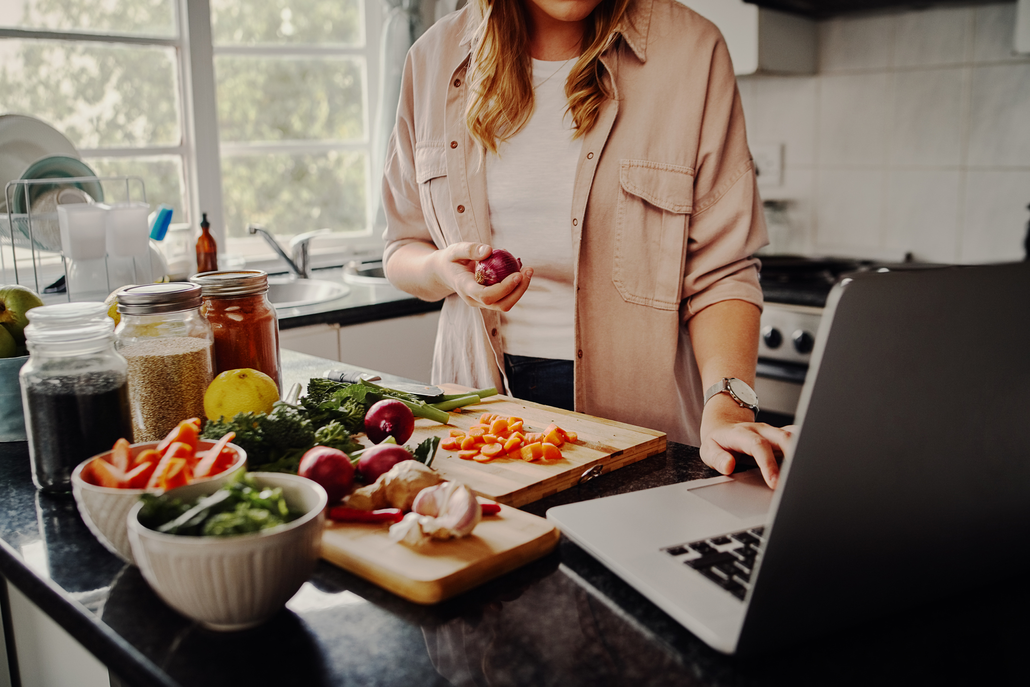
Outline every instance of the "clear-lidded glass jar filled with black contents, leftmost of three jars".
<svg viewBox="0 0 1030 687">
<path fill-rule="evenodd" d="M 29 362 L 22 402 L 32 481 L 71 491 L 75 466 L 132 440 L 128 365 L 114 350 L 114 320 L 103 303 L 33 308 L 25 328 Z"/>
</svg>

